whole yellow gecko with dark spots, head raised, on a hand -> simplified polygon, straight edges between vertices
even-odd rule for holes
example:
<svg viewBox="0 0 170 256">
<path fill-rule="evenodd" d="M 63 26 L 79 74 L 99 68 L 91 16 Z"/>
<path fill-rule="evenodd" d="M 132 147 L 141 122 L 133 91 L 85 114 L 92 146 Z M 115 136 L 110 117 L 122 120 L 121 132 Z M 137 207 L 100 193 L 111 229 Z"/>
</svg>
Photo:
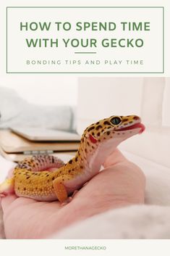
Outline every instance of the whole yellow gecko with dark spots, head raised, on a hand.
<svg viewBox="0 0 170 256">
<path fill-rule="evenodd" d="M 125 139 L 144 131 L 140 117 L 111 116 L 85 129 L 80 148 L 67 164 L 57 157 L 38 155 L 25 159 L 14 168 L 14 177 L 0 185 L 0 194 L 40 201 L 64 202 L 75 190 L 95 176 L 106 157 Z"/>
</svg>

